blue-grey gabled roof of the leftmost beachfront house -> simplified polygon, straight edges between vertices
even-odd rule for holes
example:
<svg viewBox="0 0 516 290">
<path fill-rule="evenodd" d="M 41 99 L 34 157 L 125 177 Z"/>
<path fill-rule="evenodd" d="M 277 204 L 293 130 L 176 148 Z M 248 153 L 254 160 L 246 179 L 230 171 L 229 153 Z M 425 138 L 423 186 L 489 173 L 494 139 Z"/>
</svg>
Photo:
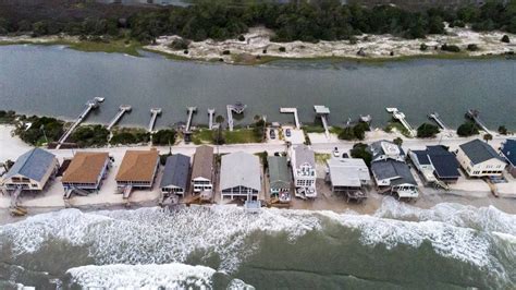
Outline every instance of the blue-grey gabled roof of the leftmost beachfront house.
<svg viewBox="0 0 516 290">
<path fill-rule="evenodd" d="M 12 178 L 16 174 L 41 181 L 49 167 L 53 165 L 56 156 L 40 148 L 34 148 L 16 159 L 13 167 L 5 173 L 4 178 Z"/>
</svg>

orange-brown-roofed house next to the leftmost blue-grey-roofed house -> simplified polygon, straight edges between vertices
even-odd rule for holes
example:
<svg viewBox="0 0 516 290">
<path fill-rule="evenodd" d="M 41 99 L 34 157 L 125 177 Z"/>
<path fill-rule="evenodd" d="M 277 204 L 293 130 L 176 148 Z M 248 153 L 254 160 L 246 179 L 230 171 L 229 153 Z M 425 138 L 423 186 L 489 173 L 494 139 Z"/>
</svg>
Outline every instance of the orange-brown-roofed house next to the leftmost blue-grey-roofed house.
<svg viewBox="0 0 516 290">
<path fill-rule="evenodd" d="M 76 153 L 61 179 L 64 191 L 98 191 L 108 174 L 109 165 L 108 153 Z"/>
</svg>

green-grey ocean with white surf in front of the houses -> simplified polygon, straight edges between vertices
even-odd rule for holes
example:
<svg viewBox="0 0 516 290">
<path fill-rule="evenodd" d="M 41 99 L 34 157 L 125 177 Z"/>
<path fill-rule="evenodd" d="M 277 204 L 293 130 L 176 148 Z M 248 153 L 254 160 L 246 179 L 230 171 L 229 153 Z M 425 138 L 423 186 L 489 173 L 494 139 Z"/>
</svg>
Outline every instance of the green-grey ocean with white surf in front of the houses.
<svg viewBox="0 0 516 290">
<path fill-rule="evenodd" d="M 373 215 L 64 209 L 0 227 L 0 289 L 514 289 L 516 216 L 385 197 Z"/>
</svg>

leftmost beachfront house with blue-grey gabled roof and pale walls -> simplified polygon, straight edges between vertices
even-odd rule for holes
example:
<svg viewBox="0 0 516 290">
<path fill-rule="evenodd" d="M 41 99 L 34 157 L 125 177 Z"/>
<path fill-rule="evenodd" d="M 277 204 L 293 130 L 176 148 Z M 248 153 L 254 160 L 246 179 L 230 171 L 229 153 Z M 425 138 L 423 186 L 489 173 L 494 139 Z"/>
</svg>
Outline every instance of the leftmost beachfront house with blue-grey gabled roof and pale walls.
<svg viewBox="0 0 516 290">
<path fill-rule="evenodd" d="M 20 156 L 3 176 L 5 191 L 42 191 L 49 180 L 56 177 L 59 162 L 47 150 L 34 148 Z"/>
</svg>

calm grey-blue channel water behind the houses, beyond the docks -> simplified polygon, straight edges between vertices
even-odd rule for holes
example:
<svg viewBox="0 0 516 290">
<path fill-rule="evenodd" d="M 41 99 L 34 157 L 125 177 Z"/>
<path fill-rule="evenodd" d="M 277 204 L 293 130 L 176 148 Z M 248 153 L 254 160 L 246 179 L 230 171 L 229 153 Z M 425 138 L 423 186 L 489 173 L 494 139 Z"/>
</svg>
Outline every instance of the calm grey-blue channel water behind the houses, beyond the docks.
<svg viewBox="0 0 516 290">
<path fill-rule="evenodd" d="M 160 107 L 158 126 L 186 120 L 186 107 L 198 108 L 195 123 L 208 123 L 208 108 L 225 116 L 225 106 L 247 105 L 241 123 L 256 114 L 293 122 L 280 107 L 297 107 L 302 122 L 315 120 L 314 105 L 330 108 L 330 124 L 371 114 L 383 126 L 385 107 L 397 107 L 413 125 L 437 111 L 451 128 L 467 109 L 480 110 L 493 129 L 516 129 L 516 61 L 434 60 L 366 63 L 353 61 L 275 61 L 232 65 L 167 60 L 152 53 L 79 52 L 62 46 L 0 47 L 0 109 L 74 119 L 97 96 L 105 104 L 88 122 L 108 123 L 120 105 L 131 105 L 122 125 L 145 126 L 150 108 Z"/>
</svg>

